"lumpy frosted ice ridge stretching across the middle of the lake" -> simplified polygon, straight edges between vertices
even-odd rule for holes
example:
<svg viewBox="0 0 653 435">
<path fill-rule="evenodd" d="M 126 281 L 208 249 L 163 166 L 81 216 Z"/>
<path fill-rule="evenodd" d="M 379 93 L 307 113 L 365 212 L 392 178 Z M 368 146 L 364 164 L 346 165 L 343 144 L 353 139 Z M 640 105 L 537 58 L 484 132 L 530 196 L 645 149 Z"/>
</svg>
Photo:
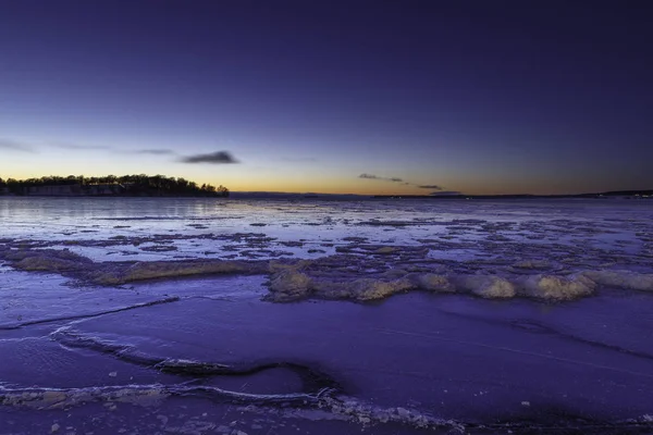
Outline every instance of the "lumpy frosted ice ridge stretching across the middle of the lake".
<svg viewBox="0 0 653 435">
<path fill-rule="evenodd" d="M 488 273 L 482 260 L 423 262 L 422 250 L 395 246 L 349 249 L 346 253 L 315 260 L 220 260 L 95 262 L 69 250 L 3 249 L 0 259 L 23 271 L 58 273 L 90 285 L 115 286 L 138 281 L 197 275 L 269 275 L 269 295 L 274 302 L 306 298 L 384 299 L 408 290 L 463 293 L 482 298 L 528 297 L 551 301 L 591 296 L 599 286 L 653 290 L 653 274 L 618 270 L 584 270 L 564 274 L 528 274 L 528 268 L 544 263 L 515 263 L 503 273 Z M 353 253 L 358 252 L 358 253 Z M 494 264 L 494 263 L 492 263 Z M 467 269 L 467 273 L 458 271 Z M 564 272 L 564 271 L 563 271 Z"/>
</svg>

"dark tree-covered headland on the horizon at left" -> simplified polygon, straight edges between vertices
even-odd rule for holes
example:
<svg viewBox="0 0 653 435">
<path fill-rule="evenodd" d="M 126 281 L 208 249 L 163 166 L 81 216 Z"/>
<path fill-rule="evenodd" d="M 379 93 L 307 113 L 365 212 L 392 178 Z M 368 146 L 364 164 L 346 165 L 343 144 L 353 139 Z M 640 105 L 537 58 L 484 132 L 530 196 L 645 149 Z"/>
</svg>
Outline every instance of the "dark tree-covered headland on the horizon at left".
<svg viewBox="0 0 653 435">
<path fill-rule="evenodd" d="M 42 176 L 40 178 L 15 179 L 0 178 L 0 192 L 5 190 L 13 195 L 26 195 L 29 188 L 46 186 L 81 186 L 91 188 L 98 185 L 114 185 L 126 196 L 220 196 L 227 197 L 229 189 L 210 184 L 198 185 L 185 178 L 168 177 L 164 175 L 107 175 L 86 177 L 84 175 Z"/>
</svg>

